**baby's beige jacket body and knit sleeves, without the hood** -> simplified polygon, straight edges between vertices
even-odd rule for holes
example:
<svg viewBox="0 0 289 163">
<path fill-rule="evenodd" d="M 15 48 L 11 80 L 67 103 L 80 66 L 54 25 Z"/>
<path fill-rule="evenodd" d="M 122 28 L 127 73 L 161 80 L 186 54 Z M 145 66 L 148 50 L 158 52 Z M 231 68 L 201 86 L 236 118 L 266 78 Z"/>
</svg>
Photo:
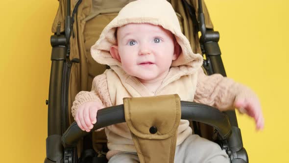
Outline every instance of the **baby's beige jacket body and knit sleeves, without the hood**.
<svg viewBox="0 0 289 163">
<path fill-rule="evenodd" d="M 192 78 L 196 78 L 196 76 L 198 78 L 197 83 L 193 83 Z M 171 78 L 168 77 L 166 79 Z M 193 85 L 196 85 L 195 90 L 193 89 Z M 133 91 L 128 91 L 126 88 L 133 89 Z M 242 89 L 241 84 L 224 78 L 219 74 L 206 76 L 200 68 L 197 75 L 182 76 L 175 81 L 169 82 L 168 85 L 163 84 L 158 91 L 152 93 L 136 78 L 132 76 L 120 78 L 114 70 L 109 69 L 94 79 L 90 92 L 81 91 L 76 95 L 72 106 L 72 115 L 74 116 L 77 108 L 87 101 L 98 101 L 105 107 L 110 107 L 123 104 L 123 97 L 143 97 L 175 93 L 183 101 L 194 101 L 216 107 L 220 110 L 227 110 L 233 108 L 235 97 L 239 94 L 240 89 Z M 181 120 L 177 132 L 177 145 L 179 145 L 192 134 L 189 121 Z M 136 152 L 126 123 L 108 126 L 105 128 L 105 133 L 108 139 L 107 145 L 110 149 L 107 154 L 108 159 L 119 151 Z"/>
</svg>

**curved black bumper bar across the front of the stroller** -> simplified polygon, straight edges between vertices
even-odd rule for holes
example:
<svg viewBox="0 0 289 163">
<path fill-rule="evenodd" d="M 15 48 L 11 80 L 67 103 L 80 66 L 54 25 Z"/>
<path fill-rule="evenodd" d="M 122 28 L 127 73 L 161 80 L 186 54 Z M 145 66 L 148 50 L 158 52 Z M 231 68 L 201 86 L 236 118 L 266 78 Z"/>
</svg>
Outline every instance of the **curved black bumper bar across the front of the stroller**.
<svg viewBox="0 0 289 163">
<path fill-rule="evenodd" d="M 123 105 L 98 110 L 96 119 L 97 122 L 91 131 L 125 122 Z M 231 135 L 231 124 L 227 115 L 208 105 L 181 101 L 181 119 L 202 122 L 214 127 L 220 139 L 226 139 Z M 82 131 L 77 123 L 73 122 L 63 134 L 62 144 L 64 147 L 75 147 L 78 140 L 87 134 L 89 133 Z"/>
</svg>

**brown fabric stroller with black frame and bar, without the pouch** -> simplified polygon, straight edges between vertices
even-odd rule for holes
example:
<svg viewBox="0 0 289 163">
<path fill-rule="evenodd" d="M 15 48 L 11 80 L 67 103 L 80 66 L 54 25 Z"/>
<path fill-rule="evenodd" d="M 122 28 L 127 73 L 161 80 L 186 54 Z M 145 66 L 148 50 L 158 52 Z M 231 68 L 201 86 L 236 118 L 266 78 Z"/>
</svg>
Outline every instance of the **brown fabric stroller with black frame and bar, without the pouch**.
<svg viewBox="0 0 289 163">
<path fill-rule="evenodd" d="M 134 0 L 59 0 L 50 40 L 52 64 L 45 163 L 107 163 L 103 130 L 82 131 L 73 122 L 71 107 L 75 95 L 90 90 L 93 78 L 109 68 L 94 61 L 90 47 L 102 29 L 131 1 Z M 204 1 L 168 1 L 193 52 L 203 55 L 204 72 L 226 76 L 217 43 L 219 33 L 213 30 Z M 231 163 L 248 163 L 235 111 L 216 112 L 213 107 L 185 101 L 180 105 L 181 119 L 191 120 L 194 134 L 217 142 L 226 150 Z M 93 130 L 122 122 L 125 122 L 123 105 L 101 109 Z"/>
</svg>

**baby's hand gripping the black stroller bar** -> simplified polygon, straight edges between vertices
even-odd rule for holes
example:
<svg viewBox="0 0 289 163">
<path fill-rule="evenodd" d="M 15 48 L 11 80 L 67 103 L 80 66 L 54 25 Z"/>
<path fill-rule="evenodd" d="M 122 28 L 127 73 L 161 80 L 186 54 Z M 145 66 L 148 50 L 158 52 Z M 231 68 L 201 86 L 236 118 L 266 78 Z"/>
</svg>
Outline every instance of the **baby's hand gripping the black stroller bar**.
<svg viewBox="0 0 289 163">
<path fill-rule="evenodd" d="M 104 108 L 101 103 L 89 101 L 80 105 L 75 113 L 74 119 L 78 127 L 86 132 L 90 132 L 93 124 L 96 123 L 97 110 Z"/>
</svg>

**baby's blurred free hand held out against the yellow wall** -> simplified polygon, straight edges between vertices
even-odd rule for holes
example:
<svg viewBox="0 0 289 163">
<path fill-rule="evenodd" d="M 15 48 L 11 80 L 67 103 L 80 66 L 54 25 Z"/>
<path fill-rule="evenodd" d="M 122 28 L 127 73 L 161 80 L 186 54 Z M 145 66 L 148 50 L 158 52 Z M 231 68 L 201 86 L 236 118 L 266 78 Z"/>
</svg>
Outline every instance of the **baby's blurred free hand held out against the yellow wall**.
<svg viewBox="0 0 289 163">
<path fill-rule="evenodd" d="M 237 95 L 234 106 L 240 113 L 246 113 L 255 119 L 256 129 L 262 130 L 264 128 L 264 117 L 261 110 L 260 102 L 253 92 L 246 92 Z M 249 95 L 248 95 L 249 93 Z"/>
</svg>

